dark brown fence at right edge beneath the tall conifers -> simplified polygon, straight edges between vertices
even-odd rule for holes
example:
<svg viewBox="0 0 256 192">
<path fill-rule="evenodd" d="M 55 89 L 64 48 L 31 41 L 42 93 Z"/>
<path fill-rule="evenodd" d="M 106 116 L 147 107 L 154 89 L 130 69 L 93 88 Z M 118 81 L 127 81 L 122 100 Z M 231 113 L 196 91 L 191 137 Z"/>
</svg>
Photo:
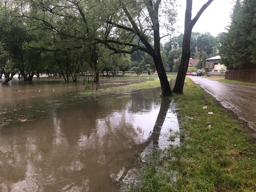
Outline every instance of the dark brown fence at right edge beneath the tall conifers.
<svg viewBox="0 0 256 192">
<path fill-rule="evenodd" d="M 228 71 L 225 74 L 225 79 L 256 83 L 256 69 L 241 70 L 241 71 Z"/>
</svg>

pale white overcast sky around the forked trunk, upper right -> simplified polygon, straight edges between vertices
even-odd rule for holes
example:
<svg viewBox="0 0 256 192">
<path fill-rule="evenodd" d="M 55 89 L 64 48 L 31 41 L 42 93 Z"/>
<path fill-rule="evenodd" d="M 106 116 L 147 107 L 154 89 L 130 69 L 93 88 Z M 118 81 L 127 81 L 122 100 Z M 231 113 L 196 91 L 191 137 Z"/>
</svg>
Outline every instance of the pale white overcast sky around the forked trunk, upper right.
<svg viewBox="0 0 256 192">
<path fill-rule="evenodd" d="M 177 8 L 178 22 L 176 35 L 184 33 L 184 17 L 186 9 L 186 0 L 177 1 L 181 6 Z M 203 4 L 207 0 L 194 0 L 192 7 L 192 18 L 195 17 Z M 210 32 L 212 36 L 217 36 L 220 32 L 226 32 L 225 27 L 229 25 L 230 13 L 233 8 L 233 0 L 213 0 L 211 5 L 203 12 L 193 28 L 193 32 Z"/>
</svg>

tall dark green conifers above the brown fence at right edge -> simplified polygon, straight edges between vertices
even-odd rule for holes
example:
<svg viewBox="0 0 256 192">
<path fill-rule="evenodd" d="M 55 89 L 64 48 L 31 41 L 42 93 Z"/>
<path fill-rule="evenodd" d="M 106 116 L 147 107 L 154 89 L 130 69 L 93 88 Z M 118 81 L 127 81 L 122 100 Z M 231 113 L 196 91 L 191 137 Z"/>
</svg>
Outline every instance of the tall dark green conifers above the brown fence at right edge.
<svg viewBox="0 0 256 192">
<path fill-rule="evenodd" d="M 221 34 L 221 62 L 228 70 L 256 65 L 256 1 L 236 1 L 228 32 Z"/>
</svg>

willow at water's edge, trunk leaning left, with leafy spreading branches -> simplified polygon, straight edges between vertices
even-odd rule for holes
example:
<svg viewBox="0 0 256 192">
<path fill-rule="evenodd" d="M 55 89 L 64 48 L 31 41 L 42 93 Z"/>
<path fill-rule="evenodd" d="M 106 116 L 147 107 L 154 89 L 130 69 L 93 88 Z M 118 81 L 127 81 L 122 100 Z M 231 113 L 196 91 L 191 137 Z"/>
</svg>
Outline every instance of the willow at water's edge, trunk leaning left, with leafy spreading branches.
<svg viewBox="0 0 256 192">
<path fill-rule="evenodd" d="M 173 31 L 176 11 L 174 1 L 161 0 L 115 0 L 110 1 L 105 14 L 102 37 L 96 40 L 113 53 L 132 54 L 142 50 L 152 56 L 160 79 L 162 95 L 171 96 L 172 91 L 160 53 L 160 29 Z M 169 23 L 161 23 L 161 15 Z"/>
</svg>

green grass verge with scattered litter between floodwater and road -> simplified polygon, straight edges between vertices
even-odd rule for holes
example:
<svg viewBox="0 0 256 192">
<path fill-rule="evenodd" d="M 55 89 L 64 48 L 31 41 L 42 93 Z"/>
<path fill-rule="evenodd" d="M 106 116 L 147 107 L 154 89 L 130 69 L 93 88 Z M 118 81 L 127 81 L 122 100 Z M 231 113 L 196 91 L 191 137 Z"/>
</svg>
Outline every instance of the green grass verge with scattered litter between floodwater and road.
<svg viewBox="0 0 256 192">
<path fill-rule="evenodd" d="M 154 152 L 139 171 L 136 185 L 122 190 L 256 191 L 256 147 L 236 120 L 190 79 L 185 80 L 184 94 L 174 99 L 180 145 Z"/>
</svg>

